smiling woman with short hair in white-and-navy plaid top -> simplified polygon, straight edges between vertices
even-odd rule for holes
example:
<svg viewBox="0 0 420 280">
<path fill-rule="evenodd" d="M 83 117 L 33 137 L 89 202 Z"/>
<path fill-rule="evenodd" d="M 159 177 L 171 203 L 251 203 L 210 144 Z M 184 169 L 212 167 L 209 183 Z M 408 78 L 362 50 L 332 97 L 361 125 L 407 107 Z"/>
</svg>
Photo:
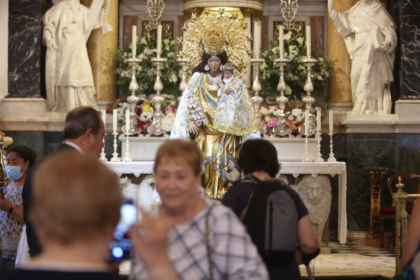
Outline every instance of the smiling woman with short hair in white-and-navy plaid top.
<svg viewBox="0 0 420 280">
<path fill-rule="evenodd" d="M 171 140 L 157 151 L 156 189 L 162 205 L 131 230 L 130 279 L 268 279 L 234 212 L 199 195 L 201 157 L 190 141 Z"/>
</svg>

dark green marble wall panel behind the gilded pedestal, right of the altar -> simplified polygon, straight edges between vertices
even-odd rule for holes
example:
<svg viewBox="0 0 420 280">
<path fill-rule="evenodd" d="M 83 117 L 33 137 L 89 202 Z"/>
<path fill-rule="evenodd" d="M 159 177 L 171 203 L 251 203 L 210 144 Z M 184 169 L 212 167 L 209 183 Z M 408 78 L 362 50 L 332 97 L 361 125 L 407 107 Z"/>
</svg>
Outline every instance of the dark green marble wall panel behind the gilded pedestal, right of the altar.
<svg viewBox="0 0 420 280">
<path fill-rule="evenodd" d="M 348 229 L 368 230 L 370 174 L 367 168 L 387 167 L 388 172 L 395 170 L 396 135 L 348 133 L 346 134 L 346 144 Z"/>
</svg>

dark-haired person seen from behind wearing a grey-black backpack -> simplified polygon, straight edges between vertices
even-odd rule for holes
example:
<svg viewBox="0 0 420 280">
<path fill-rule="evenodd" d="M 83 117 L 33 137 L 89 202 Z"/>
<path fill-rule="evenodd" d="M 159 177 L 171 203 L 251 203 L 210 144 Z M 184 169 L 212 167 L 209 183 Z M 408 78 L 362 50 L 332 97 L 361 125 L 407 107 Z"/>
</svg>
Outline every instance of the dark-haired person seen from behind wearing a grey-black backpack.
<svg viewBox="0 0 420 280">
<path fill-rule="evenodd" d="M 295 249 L 308 263 L 319 253 L 318 240 L 297 192 L 273 180 L 280 169 L 276 148 L 266 140 L 248 140 L 238 165 L 246 178 L 228 188 L 222 204 L 244 223 L 271 280 L 301 279 Z"/>
</svg>

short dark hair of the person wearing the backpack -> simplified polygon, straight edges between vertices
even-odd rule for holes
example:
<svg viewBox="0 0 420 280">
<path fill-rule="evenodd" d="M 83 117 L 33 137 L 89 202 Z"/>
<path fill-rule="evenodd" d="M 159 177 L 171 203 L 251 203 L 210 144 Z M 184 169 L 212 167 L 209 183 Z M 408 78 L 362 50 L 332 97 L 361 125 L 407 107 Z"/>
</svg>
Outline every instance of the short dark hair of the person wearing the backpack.
<svg viewBox="0 0 420 280">
<path fill-rule="evenodd" d="M 271 177 L 276 177 L 280 170 L 276 148 L 262 139 L 251 139 L 242 144 L 238 165 L 245 175 L 255 171 L 265 171 Z"/>
</svg>

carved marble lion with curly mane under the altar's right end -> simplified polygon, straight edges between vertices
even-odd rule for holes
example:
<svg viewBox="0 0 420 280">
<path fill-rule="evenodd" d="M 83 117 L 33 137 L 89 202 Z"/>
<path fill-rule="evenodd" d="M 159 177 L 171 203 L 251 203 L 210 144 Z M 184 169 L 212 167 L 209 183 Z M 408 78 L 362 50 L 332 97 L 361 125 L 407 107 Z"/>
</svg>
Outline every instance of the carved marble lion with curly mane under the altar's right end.
<svg viewBox="0 0 420 280">
<path fill-rule="evenodd" d="M 294 188 L 309 212 L 312 225 L 318 236 L 318 245 L 326 247 L 322 242 L 322 233 L 325 222 L 330 215 L 331 207 L 331 185 L 327 175 L 318 175 L 315 178 L 312 175 L 304 175 Z"/>
</svg>

